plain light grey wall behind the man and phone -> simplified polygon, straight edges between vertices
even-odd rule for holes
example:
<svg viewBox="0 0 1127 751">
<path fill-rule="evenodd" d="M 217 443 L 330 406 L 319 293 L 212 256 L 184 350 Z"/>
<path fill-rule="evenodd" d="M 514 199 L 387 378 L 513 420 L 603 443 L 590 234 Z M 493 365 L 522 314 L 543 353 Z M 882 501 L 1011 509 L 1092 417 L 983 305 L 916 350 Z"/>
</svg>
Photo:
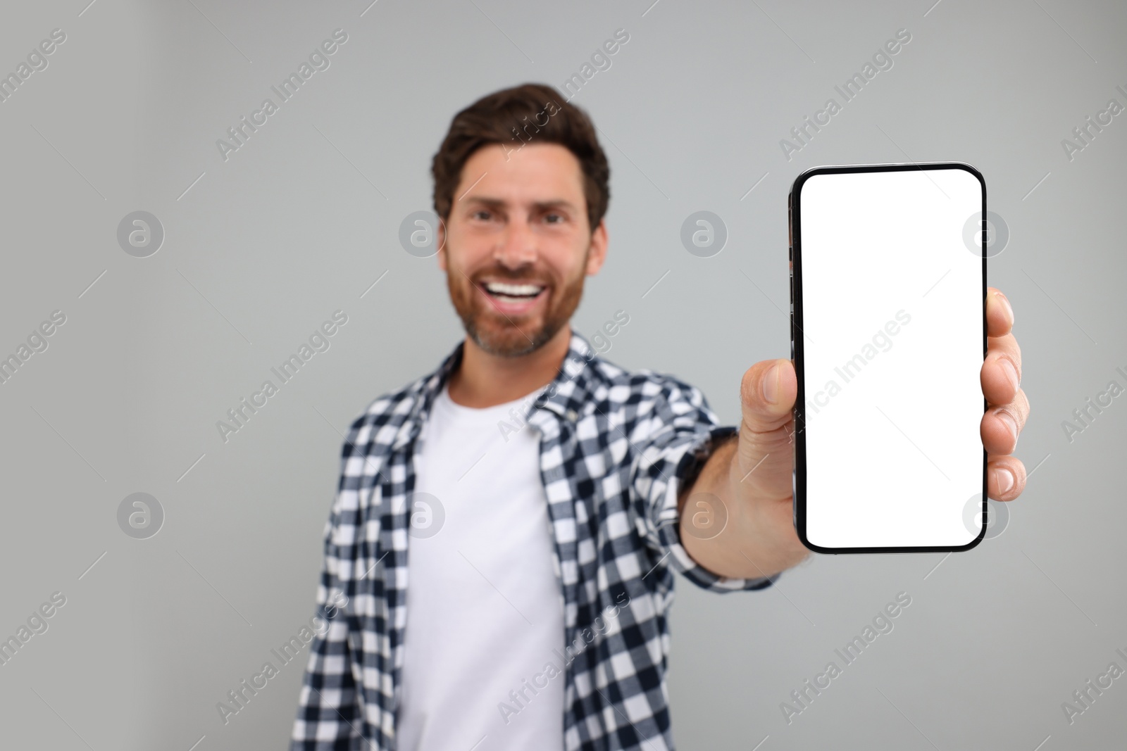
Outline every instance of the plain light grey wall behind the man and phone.
<svg viewBox="0 0 1127 751">
<path fill-rule="evenodd" d="M 52 29 L 68 38 L 0 104 L 0 354 L 66 315 L 0 385 L 0 635 L 66 597 L 0 667 L 3 746 L 285 746 L 303 663 L 227 725 L 215 705 L 312 614 L 340 432 L 461 337 L 435 260 L 399 247 L 399 223 L 429 208 L 455 111 L 505 86 L 562 86 L 618 28 L 629 43 L 573 100 L 612 166 L 610 256 L 574 320 L 589 337 L 629 313 L 609 359 L 700 386 L 735 423 L 743 372 L 788 352 L 793 177 L 961 160 L 1011 231 L 990 283 L 1017 311 L 1032 403 L 1018 454 L 1037 468 L 976 549 L 815 556 L 758 593 L 681 582 L 678 744 L 1124 744 L 1127 678 L 1074 724 L 1062 703 L 1127 668 L 1127 404 L 1071 441 L 1062 422 L 1109 381 L 1127 386 L 1127 115 L 1072 160 L 1061 142 L 1109 99 L 1127 105 L 1127 8 L 651 1 L 5 3 L 0 72 Z M 216 138 L 336 28 L 348 42 L 331 66 L 223 161 Z M 894 68 L 788 161 L 780 138 L 900 28 Z M 139 209 L 165 227 L 149 258 L 116 241 Z M 729 232 L 711 258 L 680 242 L 701 209 Z M 338 309 L 331 348 L 224 444 L 215 421 Z M 149 539 L 117 526 L 134 492 L 165 509 Z M 788 725 L 780 703 L 900 591 L 895 629 Z"/>
</svg>

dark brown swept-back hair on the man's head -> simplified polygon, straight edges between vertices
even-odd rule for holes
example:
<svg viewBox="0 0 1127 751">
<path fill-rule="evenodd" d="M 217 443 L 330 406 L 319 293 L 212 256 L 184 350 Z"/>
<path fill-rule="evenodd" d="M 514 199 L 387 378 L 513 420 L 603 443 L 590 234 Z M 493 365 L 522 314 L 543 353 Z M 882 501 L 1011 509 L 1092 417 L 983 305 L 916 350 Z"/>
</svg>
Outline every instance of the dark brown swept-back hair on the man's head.
<svg viewBox="0 0 1127 751">
<path fill-rule="evenodd" d="M 450 218 L 462 167 L 483 145 L 499 143 L 506 151 L 525 143 L 558 143 L 575 154 L 583 171 L 587 221 L 594 232 L 611 199 L 611 168 L 598 145 L 595 126 L 579 107 L 543 83 L 524 83 L 495 91 L 454 115 L 431 164 L 434 209 Z"/>
</svg>

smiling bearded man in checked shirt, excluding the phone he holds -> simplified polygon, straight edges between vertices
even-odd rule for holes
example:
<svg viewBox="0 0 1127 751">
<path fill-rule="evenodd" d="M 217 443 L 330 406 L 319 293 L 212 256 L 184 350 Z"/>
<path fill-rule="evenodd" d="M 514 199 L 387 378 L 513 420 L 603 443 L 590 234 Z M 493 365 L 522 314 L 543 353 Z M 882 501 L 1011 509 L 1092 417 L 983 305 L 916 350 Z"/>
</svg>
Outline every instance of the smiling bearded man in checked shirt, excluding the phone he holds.
<svg viewBox="0 0 1127 751">
<path fill-rule="evenodd" d="M 695 387 L 624 372 L 571 331 L 606 258 L 610 170 L 552 89 L 459 113 L 433 173 L 467 337 L 352 426 L 293 748 L 672 749 L 673 572 L 755 590 L 807 555 L 793 367 L 743 375 L 737 431 Z M 1029 405 L 1010 305 L 995 289 L 985 304 L 988 489 L 1012 500 Z M 682 513 L 695 493 L 724 504 L 720 534 Z"/>
</svg>

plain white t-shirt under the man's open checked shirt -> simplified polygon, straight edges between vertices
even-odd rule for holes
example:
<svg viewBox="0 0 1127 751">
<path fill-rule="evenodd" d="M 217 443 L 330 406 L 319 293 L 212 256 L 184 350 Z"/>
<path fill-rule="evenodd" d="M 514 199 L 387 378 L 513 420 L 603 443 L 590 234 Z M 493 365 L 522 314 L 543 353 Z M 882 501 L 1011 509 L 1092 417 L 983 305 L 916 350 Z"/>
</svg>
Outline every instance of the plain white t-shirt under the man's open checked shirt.
<svg viewBox="0 0 1127 751">
<path fill-rule="evenodd" d="M 416 492 L 441 511 L 412 501 L 401 751 L 564 748 L 564 597 L 540 433 L 521 423 L 540 391 L 472 409 L 444 387 L 424 427 Z"/>
</svg>

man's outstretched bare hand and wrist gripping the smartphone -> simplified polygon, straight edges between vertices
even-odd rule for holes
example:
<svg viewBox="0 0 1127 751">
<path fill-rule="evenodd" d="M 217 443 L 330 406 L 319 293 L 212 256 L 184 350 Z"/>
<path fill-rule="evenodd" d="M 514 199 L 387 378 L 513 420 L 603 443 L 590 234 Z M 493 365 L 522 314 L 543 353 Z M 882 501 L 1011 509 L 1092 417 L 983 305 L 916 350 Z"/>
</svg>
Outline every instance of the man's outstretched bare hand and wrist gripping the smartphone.
<svg viewBox="0 0 1127 751">
<path fill-rule="evenodd" d="M 987 492 L 999 501 L 1012 501 L 1026 488 L 1026 465 L 1010 456 L 1029 417 L 1029 400 L 1020 387 L 1021 349 L 1010 333 L 1012 327 L 1013 309 L 1005 295 L 991 287 L 986 293 L 987 351 L 980 372 L 988 406 L 979 430 L 987 453 Z M 682 544 L 694 561 L 716 574 L 771 575 L 809 553 L 798 539 L 792 511 L 797 394 L 798 378 L 790 360 L 764 360 L 748 368 L 739 390 L 739 439 L 713 452 L 696 482 L 682 490 L 682 503 L 691 495 L 711 493 L 725 506 L 727 525 L 710 539 L 690 527 L 699 509 L 684 508 L 681 515 Z"/>
</svg>

